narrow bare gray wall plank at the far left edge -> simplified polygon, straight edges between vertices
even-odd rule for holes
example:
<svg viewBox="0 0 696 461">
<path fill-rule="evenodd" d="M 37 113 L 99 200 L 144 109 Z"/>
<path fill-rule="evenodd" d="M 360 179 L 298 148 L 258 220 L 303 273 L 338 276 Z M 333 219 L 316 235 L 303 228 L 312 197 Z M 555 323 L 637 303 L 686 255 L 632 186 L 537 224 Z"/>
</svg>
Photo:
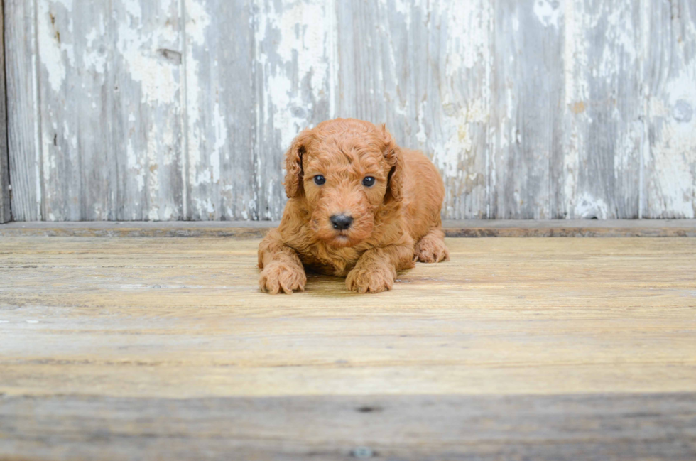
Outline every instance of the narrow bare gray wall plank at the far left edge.
<svg viewBox="0 0 696 461">
<path fill-rule="evenodd" d="M 43 219 L 35 5 L 32 1 L 4 0 L 7 140 L 11 208 L 17 221 Z"/>
</svg>

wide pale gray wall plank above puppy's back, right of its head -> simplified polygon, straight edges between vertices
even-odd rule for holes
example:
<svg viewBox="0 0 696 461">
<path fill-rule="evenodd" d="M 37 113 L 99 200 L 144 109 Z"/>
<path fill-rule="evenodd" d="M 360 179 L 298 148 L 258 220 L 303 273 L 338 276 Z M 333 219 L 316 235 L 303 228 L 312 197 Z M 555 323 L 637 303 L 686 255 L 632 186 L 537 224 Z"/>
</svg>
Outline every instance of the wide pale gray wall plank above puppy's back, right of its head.
<svg viewBox="0 0 696 461">
<path fill-rule="evenodd" d="M 488 1 L 338 2 L 337 115 L 386 122 L 433 159 L 445 216 L 488 217 Z"/>
</svg>

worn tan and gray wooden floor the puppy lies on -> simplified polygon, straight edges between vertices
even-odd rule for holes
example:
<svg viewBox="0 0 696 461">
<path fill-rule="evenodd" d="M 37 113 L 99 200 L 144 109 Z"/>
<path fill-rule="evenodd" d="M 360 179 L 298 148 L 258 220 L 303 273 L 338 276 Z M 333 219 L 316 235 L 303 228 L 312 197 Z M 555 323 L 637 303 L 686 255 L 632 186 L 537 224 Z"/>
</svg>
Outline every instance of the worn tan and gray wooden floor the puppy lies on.
<svg viewBox="0 0 696 461">
<path fill-rule="evenodd" d="M 696 239 L 448 239 L 260 293 L 257 239 L 0 237 L 0 460 L 695 460 Z"/>
</svg>

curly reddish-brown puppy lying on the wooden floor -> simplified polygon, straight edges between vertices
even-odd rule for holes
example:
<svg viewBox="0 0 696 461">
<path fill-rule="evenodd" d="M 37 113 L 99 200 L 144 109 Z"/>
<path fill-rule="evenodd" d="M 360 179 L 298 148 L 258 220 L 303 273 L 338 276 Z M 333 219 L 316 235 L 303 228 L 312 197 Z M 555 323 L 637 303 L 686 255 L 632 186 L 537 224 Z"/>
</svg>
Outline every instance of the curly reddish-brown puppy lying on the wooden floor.
<svg viewBox="0 0 696 461">
<path fill-rule="evenodd" d="M 346 277 L 349 290 L 391 290 L 414 261 L 449 261 L 440 209 L 445 187 L 423 153 L 384 126 L 336 119 L 295 138 L 286 153 L 288 203 L 259 246 L 259 286 L 304 291 L 305 267 Z"/>
</svg>

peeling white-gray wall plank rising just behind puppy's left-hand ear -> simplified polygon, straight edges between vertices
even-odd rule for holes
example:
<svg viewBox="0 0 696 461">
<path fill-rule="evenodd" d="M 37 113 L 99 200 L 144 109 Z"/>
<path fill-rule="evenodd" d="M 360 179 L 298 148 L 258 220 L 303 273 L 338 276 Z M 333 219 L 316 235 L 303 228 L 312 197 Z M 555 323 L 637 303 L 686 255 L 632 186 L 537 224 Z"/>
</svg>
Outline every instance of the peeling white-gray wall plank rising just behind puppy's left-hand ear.
<svg viewBox="0 0 696 461">
<path fill-rule="evenodd" d="M 301 129 L 334 116 L 336 11 L 333 1 L 255 0 L 254 219 L 280 219 L 286 202 L 283 154 Z"/>
</svg>

